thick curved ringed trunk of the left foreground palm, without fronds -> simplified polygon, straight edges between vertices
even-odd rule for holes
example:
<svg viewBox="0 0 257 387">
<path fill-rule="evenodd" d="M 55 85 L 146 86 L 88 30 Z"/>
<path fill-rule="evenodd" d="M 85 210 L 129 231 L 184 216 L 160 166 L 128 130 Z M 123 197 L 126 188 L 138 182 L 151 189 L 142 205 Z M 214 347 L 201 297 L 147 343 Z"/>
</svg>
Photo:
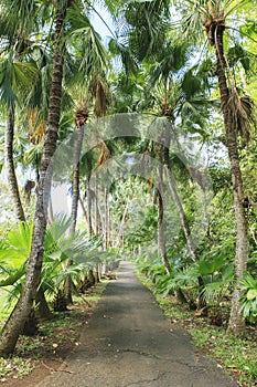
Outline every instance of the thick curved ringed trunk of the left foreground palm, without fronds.
<svg viewBox="0 0 257 387">
<path fill-rule="evenodd" d="M 63 46 L 61 44 L 61 35 L 64 27 L 67 2 L 58 0 L 56 1 L 56 8 L 55 43 L 52 84 L 50 91 L 49 118 L 41 163 L 40 182 L 38 187 L 31 254 L 28 262 L 25 282 L 21 296 L 2 330 L 0 337 L 0 356 L 7 356 L 14 351 L 18 337 L 21 334 L 25 320 L 28 318 L 33 306 L 41 278 L 46 230 L 45 206 L 49 203 L 51 190 L 51 171 L 49 171 L 49 166 L 56 149 L 61 113 L 63 79 Z"/>
</svg>

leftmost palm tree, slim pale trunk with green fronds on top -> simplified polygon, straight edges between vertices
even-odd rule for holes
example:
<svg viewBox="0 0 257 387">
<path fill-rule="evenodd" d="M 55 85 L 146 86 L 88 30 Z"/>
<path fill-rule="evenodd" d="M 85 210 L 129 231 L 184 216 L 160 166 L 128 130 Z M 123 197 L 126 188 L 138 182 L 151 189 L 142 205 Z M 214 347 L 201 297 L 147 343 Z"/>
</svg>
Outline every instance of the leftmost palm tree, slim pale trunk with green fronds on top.
<svg viewBox="0 0 257 387">
<path fill-rule="evenodd" d="M 20 7 L 22 9 L 23 6 Z M 28 19 L 35 10 L 33 1 L 26 3 Z M 10 9 L 12 11 L 10 12 Z M 13 9 L 18 10 L 17 3 L 4 0 L 1 3 L 0 12 L 0 103 L 6 111 L 6 157 L 4 164 L 13 200 L 17 218 L 25 221 L 25 215 L 21 201 L 21 195 L 15 175 L 13 161 L 13 138 L 15 127 L 15 109 L 24 103 L 32 83 L 35 79 L 36 69 L 32 61 L 25 57 L 31 33 L 30 22 L 25 22 L 15 17 Z"/>
</svg>

